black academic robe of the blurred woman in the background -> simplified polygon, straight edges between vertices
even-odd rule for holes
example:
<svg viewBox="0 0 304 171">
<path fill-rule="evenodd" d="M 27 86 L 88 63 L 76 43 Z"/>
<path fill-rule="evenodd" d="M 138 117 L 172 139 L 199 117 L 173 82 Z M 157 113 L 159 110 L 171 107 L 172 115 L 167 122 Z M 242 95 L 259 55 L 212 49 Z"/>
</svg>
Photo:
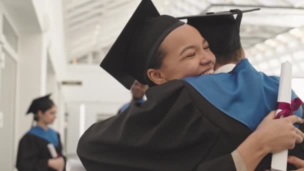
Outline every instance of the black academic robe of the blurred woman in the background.
<svg viewBox="0 0 304 171">
<path fill-rule="evenodd" d="M 59 145 L 55 149 L 57 154 L 62 156 L 64 161 L 66 161 L 62 155 L 60 136 L 59 134 L 57 135 Z M 47 144 L 49 144 L 49 141 L 31 133 L 26 133 L 19 141 L 16 161 L 18 171 L 56 171 L 47 165 L 47 160 L 52 158 Z"/>
</svg>

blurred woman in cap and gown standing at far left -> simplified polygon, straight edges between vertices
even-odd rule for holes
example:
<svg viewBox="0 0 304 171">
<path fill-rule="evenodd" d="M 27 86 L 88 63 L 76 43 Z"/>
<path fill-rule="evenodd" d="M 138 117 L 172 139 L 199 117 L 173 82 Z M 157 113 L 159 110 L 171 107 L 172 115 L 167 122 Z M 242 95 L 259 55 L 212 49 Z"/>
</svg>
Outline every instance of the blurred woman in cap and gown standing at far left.
<svg viewBox="0 0 304 171">
<path fill-rule="evenodd" d="M 59 133 L 48 127 L 56 118 L 56 105 L 49 96 L 34 99 L 26 112 L 34 114 L 36 125 L 19 141 L 16 162 L 19 171 L 64 170 L 65 157 Z"/>
</svg>

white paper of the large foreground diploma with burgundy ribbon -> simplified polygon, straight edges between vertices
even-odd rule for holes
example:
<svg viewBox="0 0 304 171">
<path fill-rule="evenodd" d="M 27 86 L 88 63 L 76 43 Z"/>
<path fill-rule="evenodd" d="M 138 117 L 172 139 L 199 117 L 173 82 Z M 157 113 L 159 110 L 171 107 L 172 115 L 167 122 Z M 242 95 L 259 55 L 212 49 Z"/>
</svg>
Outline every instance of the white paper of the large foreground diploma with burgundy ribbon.
<svg viewBox="0 0 304 171">
<path fill-rule="evenodd" d="M 278 86 L 277 102 L 291 102 L 291 77 L 292 64 L 289 61 L 283 62 L 281 65 L 281 74 Z M 275 116 L 281 109 L 275 111 Z M 271 159 L 271 170 L 286 171 L 287 169 L 288 150 L 273 153 Z"/>
</svg>

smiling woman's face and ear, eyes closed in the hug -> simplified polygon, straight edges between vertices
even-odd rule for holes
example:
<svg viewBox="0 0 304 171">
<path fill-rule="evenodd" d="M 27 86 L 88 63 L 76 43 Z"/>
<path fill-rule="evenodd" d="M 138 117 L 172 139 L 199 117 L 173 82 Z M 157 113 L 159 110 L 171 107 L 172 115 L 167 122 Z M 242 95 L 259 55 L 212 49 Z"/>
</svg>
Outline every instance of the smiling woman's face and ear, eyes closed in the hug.
<svg viewBox="0 0 304 171">
<path fill-rule="evenodd" d="M 171 31 L 162 41 L 165 52 L 159 69 L 148 69 L 149 78 L 156 84 L 213 72 L 215 56 L 208 42 L 192 26 L 183 24 Z M 149 71 L 156 71 L 149 73 Z M 158 77 L 157 77 L 158 76 Z"/>
</svg>

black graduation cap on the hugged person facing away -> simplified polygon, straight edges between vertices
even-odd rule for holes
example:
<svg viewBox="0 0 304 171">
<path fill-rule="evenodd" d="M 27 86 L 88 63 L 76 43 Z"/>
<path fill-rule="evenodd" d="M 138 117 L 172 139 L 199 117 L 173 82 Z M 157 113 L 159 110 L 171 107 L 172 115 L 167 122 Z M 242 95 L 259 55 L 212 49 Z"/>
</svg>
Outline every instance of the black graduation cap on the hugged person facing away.
<svg viewBox="0 0 304 171">
<path fill-rule="evenodd" d="M 229 53 L 240 48 L 239 27 L 242 13 L 259 9 L 231 9 L 177 18 L 187 19 L 187 24 L 200 32 L 208 41 L 210 50 L 216 55 L 216 53 Z M 233 14 L 237 14 L 237 16 L 234 18 Z"/>
</svg>

